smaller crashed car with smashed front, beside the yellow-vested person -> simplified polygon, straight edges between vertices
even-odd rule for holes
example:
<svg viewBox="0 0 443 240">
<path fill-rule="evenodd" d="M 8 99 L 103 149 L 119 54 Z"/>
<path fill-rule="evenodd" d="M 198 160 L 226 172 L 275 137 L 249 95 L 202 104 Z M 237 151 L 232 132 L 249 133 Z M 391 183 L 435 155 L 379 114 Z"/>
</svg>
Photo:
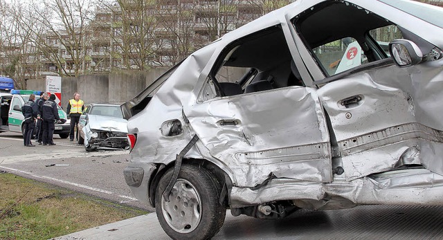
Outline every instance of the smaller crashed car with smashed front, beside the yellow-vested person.
<svg viewBox="0 0 443 240">
<path fill-rule="evenodd" d="M 86 151 L 129 149 L 127 120 L 118 104 L 88 104 L 78 124 L 78 144 Z"/>
</svg>

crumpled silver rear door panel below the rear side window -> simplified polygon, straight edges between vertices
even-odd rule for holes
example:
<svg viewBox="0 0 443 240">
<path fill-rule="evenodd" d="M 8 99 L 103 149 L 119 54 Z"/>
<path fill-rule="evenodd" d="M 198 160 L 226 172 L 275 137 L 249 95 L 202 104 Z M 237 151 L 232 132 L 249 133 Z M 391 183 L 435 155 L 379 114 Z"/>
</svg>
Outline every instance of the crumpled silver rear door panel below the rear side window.
<svg viewBox="0 0 443 240">
<path fill-rule="evenodd" d="M 291 88 L 216 98 L 186 113 L 192 129 L 239 186 L 269 177 L 326 183 L 331 149 L 315 89 Z"/>
</svg>

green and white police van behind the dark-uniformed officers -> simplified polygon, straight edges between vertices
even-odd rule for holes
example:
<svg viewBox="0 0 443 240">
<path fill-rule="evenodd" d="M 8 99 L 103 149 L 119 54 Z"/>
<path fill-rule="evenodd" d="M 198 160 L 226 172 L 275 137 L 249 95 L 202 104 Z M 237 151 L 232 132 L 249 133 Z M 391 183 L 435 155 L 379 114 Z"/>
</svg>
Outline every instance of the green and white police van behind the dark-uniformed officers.
<svg viewBox="0 0 443 240">
<path fill-rule="evenodd" d="M 40 91 L 12 90 L 10 93 L 0 93 L 0 133 L 6 131 L 24 133 L 24 116 L 21 107 L 28 102 L 30 94 L 35 94 L 37 100 Z M 54 134 L 58 134 L 60 138 L 68 138 L 71 131 L 70 120 L 58 104 L 57 108 L 60 121 L 55 123 Z"/>
</svg>

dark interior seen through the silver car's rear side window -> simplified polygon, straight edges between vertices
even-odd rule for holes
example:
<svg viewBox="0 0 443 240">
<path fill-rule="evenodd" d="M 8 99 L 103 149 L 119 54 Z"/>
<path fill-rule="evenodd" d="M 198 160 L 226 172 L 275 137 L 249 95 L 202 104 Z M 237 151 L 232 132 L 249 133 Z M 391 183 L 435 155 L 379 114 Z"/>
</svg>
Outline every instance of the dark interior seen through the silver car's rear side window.
<svg viewBox="0 0 443 240">
<path fill-rule="evenodd" d="M 210 73 L 218 96 L 303 86 L 280 25 L 226 46 Z"/>
</svg>

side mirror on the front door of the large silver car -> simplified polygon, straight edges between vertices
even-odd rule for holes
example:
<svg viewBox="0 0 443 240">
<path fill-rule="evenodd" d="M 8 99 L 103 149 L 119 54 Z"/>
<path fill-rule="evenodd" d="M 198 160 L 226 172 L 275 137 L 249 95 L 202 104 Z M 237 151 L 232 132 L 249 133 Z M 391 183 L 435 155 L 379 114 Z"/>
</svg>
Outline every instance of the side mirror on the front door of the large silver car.
<svg viewBox="0 0 443 240">
<path fill-rule="evenodd" d="M 413 66 L 422 62 L 422 50 L 413 41 L 396 39 L 389 43 L 389 53 L 399 67 Z"/>
</svg>

